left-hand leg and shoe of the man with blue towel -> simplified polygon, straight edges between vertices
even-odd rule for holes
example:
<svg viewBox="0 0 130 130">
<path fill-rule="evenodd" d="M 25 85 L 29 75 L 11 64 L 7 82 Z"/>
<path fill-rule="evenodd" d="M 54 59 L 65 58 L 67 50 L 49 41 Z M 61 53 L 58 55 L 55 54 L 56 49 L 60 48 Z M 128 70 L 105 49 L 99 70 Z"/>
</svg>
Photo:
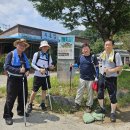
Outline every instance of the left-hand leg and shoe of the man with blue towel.
<svg viewBox="0 0 130 130">
<path fill-rule="evenodd" d="M 4 106 L 4 114 L 3 118 L 6 120 L 7 125 L 13 124 L 13 113 L 12 109 L 14 106 L 15 99 L 17 97 L 17 82 L 14 78 L 8 77 L 7 79 L 7 97 L 6 97 L 6 103 Z"/>
</svg>

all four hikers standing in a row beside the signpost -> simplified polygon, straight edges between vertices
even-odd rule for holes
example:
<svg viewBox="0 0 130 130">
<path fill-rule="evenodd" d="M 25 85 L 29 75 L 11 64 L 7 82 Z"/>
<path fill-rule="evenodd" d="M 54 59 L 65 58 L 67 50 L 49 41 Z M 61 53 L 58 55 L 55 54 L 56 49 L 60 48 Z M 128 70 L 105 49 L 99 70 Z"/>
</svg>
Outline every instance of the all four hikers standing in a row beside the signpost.
<svg viewBox="0 0 130 130">
<path fill-rule="evenodd" d="M 16 40 L 13 45 L 16 48 L 7 54 L 4 64 L 4 69 L 7 71 L 8 77 L 6 89 L 7 97 L 4 106 L 3 118 L 5 119 L 7 125 L 13 124 L 12 109 L 16 98 L 18 101 L 17 114 L 19 116 L 29 117 L 29 114 L 33 109 L 33 100 L 35 99 L 35 95 L 40 87 L 42 89 L 40 107 L 42 110 L 47 110 L 45 104 L 46 90 L 51 88 L 49 71 L 54 69 L 51 55 L 48 53 L 50 45 L 47 41 L 41 41 L 39 51 L 34 53 L 31 63 L 32 67 L 35 69 L 35 72 L 32 93 L 25 113 L 24 105 L 27 104 L 28 98 L 27 76 L 29 76 L 30 63 L 24 51 L 29 47 L 29 44 L 25 39 L 19 39 Z M 75 98 L 75 105 L 72 108 L 73 112 L 76 112 L 80 109 L 85 88 L 87 88 L 88 93 L 86 112 L 90 113 L 92 111 L 92 84 L 94 81 L 96 81 L 98 82 L 97 97 L 100 107 L 96 109 L 95 112 L 105 114 L 106 109 L 104 106 L 104 91 L 107 89 L 111 101 L 110 120 L 111 122 L 116 122 L 117 76 L 118 72 L 122 69 L 122 61 L 119 53 L 116 53 L 113 47 L 114 42 L 111 39 L 105 41 L 104 51 L 100 55 L 102 67 L 99 73 L 99 63 L 96 55 L 91 54 L 89 44 L 84 43 L 82 45 L 82 54 L 79 56 L 77 61 L 77 66 L 80 72 L 80 79 L 77 95 Z M 74 66 L 75 65 L 70 65 L 70 67 Z"/>
</svg>

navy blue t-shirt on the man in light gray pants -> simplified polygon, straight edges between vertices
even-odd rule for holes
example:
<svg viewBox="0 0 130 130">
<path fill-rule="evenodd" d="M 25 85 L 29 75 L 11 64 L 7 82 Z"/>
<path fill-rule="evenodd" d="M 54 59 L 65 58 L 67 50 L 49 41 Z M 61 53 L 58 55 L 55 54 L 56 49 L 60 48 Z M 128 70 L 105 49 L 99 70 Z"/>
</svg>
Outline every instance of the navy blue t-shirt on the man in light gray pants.
<svg viewBox="0 0 130 130">
<path fill-rule="evenodd" d="M 97 57 L 92 55 L 79 57 L 78 63 L 80 69 L 80 78 L 92 81 L 95 79 L 95 66 L 98 65 Z"/>
</svg>

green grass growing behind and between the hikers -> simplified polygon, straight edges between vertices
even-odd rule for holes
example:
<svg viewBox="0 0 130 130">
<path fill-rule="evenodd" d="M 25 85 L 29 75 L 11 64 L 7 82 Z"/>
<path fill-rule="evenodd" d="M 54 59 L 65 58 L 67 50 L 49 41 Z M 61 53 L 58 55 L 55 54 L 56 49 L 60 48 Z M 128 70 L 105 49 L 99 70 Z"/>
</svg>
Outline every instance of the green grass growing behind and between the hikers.
<svg viewBox="0 0 130 130">
<path fill-rule="evenodd" d="M 72 88 L 70 90 L 70 83 L 69 80 L 67 83 L 59 83 L 57 80 L 57 77 L 51 77 L 51 90 L 50 93 L 51 95 L 59 95 L 59 96 L 63 96 L 63 97 L 75 97 L 76 96 L 76 91 L 77 91 L 77 87 L 79 84 L 79 75 L 75 75 L 75 77 L 72 79 Z M 130 72 L 129 71 L 123 71 L 122 74 L 118 77 L 118 90 L 121 91 L 125 91 L 127 93 L 125 93 L 125 96 L 122 96 L 120 98 L 118 98 L 118 105 L 119 107 L 124 107 L 126 105 L 128 105 L 128 103 L 130 103 Z M 31 94 L 31 89 L 33 86 L 33 78 L 30 78 L 28 80 L 28 91 L 29 91 L 29 95 Z M 0 97 L 5 96 L 6 94 L 6 87 L 3 86 L 0 88 Z M 86 91 L 85 91 L 86 93 Z M 40 103 L 41 100 L 41 90 L 39 89 L 38 94 L 36 95 L 35 101 L 37 103 Z M 96 93 L 95 93 L 95 97 L 96 97 Z M 84 105 L 86 102 L 87 96 L 86 94 L 84 94 L 83 96 L 83 101 L 82 104 Z M 97 105 L 97 99 L 95 99 L 95 106 Z M 106 102 L 106 106 L 110 106 L 110 101 L 108 98 L 108 95 L 106 96 L 105 99 Z M 60 104 L 54 103 L 53 102 L 53 109 L 55 112 L 59 112 L 59 113 L 63 113 L 65 111 L 68 111 L 70 108 L 66 107 L 66 106 L 60 106 Z"/>
</svg>

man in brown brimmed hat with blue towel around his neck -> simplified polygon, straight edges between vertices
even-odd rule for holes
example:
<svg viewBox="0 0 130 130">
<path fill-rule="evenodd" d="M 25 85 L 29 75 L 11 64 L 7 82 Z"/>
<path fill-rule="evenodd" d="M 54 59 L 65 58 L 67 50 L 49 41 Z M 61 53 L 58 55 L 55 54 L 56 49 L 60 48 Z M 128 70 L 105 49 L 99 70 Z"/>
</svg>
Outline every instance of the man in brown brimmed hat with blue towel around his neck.
<svg viewBox="0 0 130 130">
<path fill-rule="evenodd" d="M 12 109 L 17 97 L 18 97 L 17 114 L 19 116 L 24 116 L 23 87 L 25 90 L 25 104 L 27 103 L 27 97 L 28 97 L 27 76 L 29 75 L 30 64 L 24 51 L 29 47 L 29 44 L 26 42 L 25 39 L 20 39 L 16 40 L 13 43 L 13 45 L 16 48 L 7 54 L 4 64 L 4 69 L 8 73 L 8 78 L 6 89 L 7 97 L 4 106 L 3 118 L 5 119 L 7 125 L 13 124 Z M 29 115 L 26 113 L 26 116 Z"/>
</svg>

